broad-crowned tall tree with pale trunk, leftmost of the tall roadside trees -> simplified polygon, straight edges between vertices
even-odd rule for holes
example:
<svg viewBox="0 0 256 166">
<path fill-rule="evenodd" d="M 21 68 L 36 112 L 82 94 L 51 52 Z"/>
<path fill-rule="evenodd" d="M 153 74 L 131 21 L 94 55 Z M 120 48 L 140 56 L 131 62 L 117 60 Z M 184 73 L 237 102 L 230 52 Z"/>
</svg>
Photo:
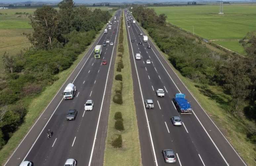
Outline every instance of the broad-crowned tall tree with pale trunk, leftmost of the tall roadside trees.
<svg viewBox="0 0 256 166">
<path fill-rule="evenodd" d="M 29 18 L 34 29 L 32 37 L 29 38 L 31 43 L 37 48 L 52 49 L 59 22 L 57 10 L 50 6 L 43 6 Z"/>
</svg>

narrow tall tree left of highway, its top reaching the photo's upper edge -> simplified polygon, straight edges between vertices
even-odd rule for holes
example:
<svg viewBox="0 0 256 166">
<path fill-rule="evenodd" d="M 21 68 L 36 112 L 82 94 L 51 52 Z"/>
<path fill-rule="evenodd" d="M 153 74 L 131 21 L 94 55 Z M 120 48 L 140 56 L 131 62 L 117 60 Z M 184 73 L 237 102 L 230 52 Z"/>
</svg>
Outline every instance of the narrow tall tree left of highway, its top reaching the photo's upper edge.
<svg viewBox="0 0 256 166">
<path fill-rule="evenodd" d="M 59 29 L 62 37 L 65 39 L 65 43 L 67 43 L 67 34 L 73 30 L 72 21 L 74 19 L 74 2 L 73 0 L 63 0 L 59 3 L 59 8 Z"/>
</svg>

